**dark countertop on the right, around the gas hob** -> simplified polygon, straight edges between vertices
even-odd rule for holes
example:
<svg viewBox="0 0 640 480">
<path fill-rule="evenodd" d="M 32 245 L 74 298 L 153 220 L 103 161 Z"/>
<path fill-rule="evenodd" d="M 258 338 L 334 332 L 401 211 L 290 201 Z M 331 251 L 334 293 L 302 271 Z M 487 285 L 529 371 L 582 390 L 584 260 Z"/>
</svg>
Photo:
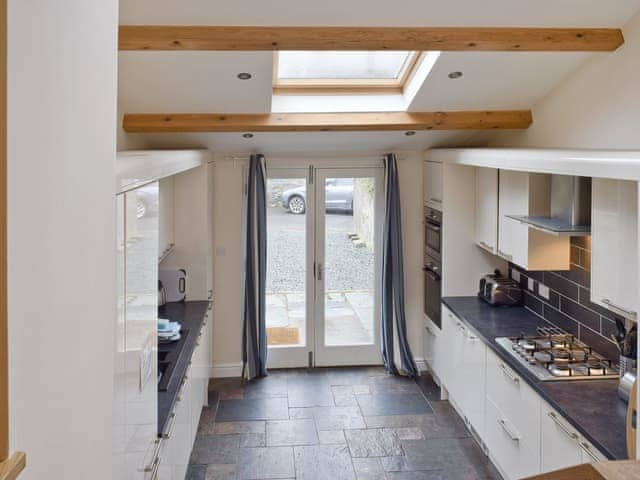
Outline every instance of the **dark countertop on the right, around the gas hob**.
<svg viewBox="0 0 640 480">
<path fill-rule="evenodd" d="M 495 342 L 496 337 L 535 334 L 548 323 L 524 307 L 492 307 L 477 297 L 445 297 L 442 302 L 589 442 L 612 460 L 627 458 L 627 404 L 617 380 L 541 382 Z"/>
</svg>

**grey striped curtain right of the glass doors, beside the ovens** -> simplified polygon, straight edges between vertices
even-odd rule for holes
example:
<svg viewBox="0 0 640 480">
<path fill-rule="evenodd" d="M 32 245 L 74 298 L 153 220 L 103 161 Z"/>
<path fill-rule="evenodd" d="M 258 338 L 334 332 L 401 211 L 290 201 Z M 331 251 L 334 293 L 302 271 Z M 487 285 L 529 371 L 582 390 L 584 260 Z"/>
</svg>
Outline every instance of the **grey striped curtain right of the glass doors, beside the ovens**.
<svg viewBox="0 0 640 480">
<path fill-rule="evenodd" d="M 386 208 L 382 253 L 382 360 L 389 373 L 400 373 L 394 359 L 397 340 L 401 368 L 406 375 L 415 377 L 418 375 L 418 369 L 407 340 L 404 309 L 402 216 L 398 164 L 394 154 L 385 156 L 384 170 Z"/>
</svg>

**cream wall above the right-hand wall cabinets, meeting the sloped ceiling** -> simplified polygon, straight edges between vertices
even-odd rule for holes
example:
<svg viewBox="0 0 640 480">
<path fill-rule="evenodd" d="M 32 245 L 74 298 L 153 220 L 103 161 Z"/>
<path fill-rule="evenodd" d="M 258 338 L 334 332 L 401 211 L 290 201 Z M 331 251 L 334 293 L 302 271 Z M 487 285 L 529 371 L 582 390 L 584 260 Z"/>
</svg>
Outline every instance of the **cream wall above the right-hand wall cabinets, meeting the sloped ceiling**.
<svg viewBox="0 0 640 480">
<path fill-rule="evenodd" d="M 640 148 L 640 12 L 623 28 L 625 44 L 595 55 L 533 107 L 526 131 L 492 146 Z"/>
</svg>

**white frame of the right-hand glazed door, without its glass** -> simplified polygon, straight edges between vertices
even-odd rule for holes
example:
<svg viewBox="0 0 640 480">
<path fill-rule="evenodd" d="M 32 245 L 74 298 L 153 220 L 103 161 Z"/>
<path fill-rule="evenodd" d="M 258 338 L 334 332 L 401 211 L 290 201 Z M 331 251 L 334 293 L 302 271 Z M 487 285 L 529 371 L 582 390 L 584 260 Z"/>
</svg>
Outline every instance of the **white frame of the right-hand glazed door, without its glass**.
<svg viewBox="0 0 640 480">
<path fill-rule="evenodd" d="M 349 167 L 349 168 L 316 168 L 315 169 L 316 205 L 325 204 L 325 180 L 327 178 L 373 178 L 375 181 L 375 279 L 374 279 L 374 317 L 373 343 L 371 345 L 325 345 L 325 210 L 316 209 L 315 215 L 315 348 L 314 365 L 346 366 L 346 365 L 380 365 L 380 316 L 381 316 L 381 281 L 382 281 L 382 230 L 384 225 L 384 169 L 382 167 Z"/>
</svg>

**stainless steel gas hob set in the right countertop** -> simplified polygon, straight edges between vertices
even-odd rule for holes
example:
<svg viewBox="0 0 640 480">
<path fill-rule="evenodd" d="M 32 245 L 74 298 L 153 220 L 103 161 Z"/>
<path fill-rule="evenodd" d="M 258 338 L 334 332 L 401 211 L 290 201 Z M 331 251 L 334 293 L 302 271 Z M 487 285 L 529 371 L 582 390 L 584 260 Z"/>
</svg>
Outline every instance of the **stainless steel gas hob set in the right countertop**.
<svg viewBox="0 0 640 480">
<path fill-rule="evenodd" d="M 538 335 L 500 337 L 496 342 L 542 381 L 618 378 L 618 367 L 573 335 L 540 327 Z"/>
</svg>

